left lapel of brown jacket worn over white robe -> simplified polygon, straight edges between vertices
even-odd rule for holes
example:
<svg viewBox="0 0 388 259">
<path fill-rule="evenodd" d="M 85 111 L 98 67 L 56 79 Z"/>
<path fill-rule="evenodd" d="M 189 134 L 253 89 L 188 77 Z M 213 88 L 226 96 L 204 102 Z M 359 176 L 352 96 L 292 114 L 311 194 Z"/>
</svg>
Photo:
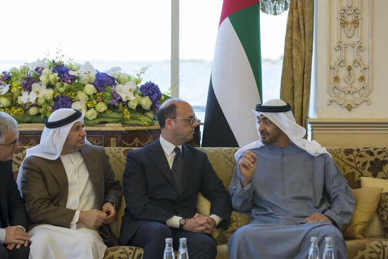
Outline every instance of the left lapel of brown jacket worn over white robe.
<svg viewBox="0 0 388 259">
<path fill-rule="evenodd" d="M 57 179 L 60 192 L 62 193 L 61 199 L 59 200 L 59 206 L 66 207 L 67 195 L 69 192 L 69 182 L 67 180 L 67 174 L 65 171 L 65 167 L 62 163 L 62 160 L 60 157 L 58 157 L 55 160 L 46 160 L 46 161 L 49 163 L 48 168 L 51 174 L 54 175 L 55 179 Z"/>
</svg>

